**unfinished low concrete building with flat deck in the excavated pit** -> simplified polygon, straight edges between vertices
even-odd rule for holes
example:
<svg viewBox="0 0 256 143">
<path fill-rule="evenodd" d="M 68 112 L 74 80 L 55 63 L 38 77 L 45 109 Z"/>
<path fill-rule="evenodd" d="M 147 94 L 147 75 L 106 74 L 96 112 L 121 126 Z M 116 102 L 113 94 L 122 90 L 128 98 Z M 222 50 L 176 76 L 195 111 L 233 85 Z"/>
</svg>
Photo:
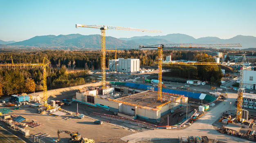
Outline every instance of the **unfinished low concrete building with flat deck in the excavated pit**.
<svg viewBox="0 0 256 143">
<path fill-rule="evenodd" d="M 134 90 L 134 89 L 133 89 Z M 103 95 L 97 94 L 97 90 L 86 90 L 76 93 L 76 102 L 82 102 L 105 110 L 118 113 L 120 116 L 132 119 L 144 119 L 157 123 L 161 116 L 180 107 L 179 103 L 187 103 L 184 95 L 166 93 L 162 94 L 163 101 L 157 100 L 157 92 L 148 90 L 135 94 L 115 92 L 115 87 L 104 89 Z"/>
</svg>

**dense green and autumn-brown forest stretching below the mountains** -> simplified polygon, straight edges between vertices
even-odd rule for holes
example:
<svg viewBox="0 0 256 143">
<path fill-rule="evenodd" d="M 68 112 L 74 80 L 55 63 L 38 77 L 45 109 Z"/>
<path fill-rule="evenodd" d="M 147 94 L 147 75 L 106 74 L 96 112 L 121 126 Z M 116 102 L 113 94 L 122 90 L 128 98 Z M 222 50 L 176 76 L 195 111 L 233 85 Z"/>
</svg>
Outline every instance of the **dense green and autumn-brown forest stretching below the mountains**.
<svg viewBox="0 0 256 143">
<path fill-rule="evenodd" d="M 166 56 L 171 55 L 172 60 L 200 60 L 203 52 L 198 50 L 164 50 L 164 60 Z M 201 56 L 199 56 L 201 55 Z M 69 87 L 81 85 L 87 82 L 89 70 L 101 69 L 101 51 L 85 50 L 85 51 L 62 51 L 62 50 L 44 50 L 44 51 L 11 51 L 0 52 L 0 63 L 43 63 L 44 57 L 51 62 L 51 69 L 47 68 L 47 88 L 55 89 L 61 87 Z M 155 65 L 158 61 L 158 50 L 117 50 L 117 58 L 139 58 L 140 65 Z M 106 67 L 108 67 L 109 59 L 115 59 L 115 52 L 106 52 Z M 166 66 L 166 68 L 174 68 L 175 66 Z M 81 69 L 83 71 L 70 73 L 73 69 Z M 176 74 L 172 72 L 170 76 L 181 76 L 200 78 L 205 73 L 200 74 L 200 67 L 185 66 L 177 68 Z M 180 70 L 180 71 L 178 71 Z M 213 69 L 207 69 L 212 71 Z M 217 70 L 217 69 L 216 69 Z M 183 74 L 181 74 L 183 73 Z M 167 74 L 167 73 L 166 73 Z M 200 76 L 198 76 L 200 75 Z M 209 79 L 209 75 L 203 78 Z M 210 77 L 211 78 L 211 77 Z M 214 76 L 215 80 L 219 79 Z M 26 83 L 35 86 L 26 87 Z M 17 94 L 22 92 L 33 92 L 43 90 L 43 69 L 40 66 L 24 66 L 24 67 L 3 67 L 0 66 L 0 94 Z"/>
</svg>

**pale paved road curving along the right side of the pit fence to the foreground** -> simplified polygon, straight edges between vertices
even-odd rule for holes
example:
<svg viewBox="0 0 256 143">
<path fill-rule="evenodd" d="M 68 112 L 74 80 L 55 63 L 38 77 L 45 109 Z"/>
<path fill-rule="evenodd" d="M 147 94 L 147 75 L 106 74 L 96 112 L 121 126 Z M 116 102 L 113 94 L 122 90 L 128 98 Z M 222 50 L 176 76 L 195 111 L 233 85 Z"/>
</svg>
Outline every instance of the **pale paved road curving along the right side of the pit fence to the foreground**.
<svg viewBox="0 0 256 143">
<path fill-rule="evenodd" d="M 136 134 L 131 134 L 126 137 L 122 137 L 121 139 L 123 141 L 127 140 L 133 140 L 138 137 L 143 137 L 143 138 L 176 138 L 179 136 L 207 136 L 210 139 L 215 139 L 216 136 L 218 136 L 218 140 L 220 141 L 227 141 L 229 143 L 238 143 L 238 142 L 243 142 L 243 143 L 251 143 L 251 141 L 248 141 L 246 139 L 240 139 L 238 137 L 233 137 L 227 134 L 221 134 L 220 132 L 216 131 L 212 124 L 219 119 L 220 115 L 222 112 L 225 112 L 230 109 L 229 102 L 235 102 L 237 98 L 237 94 L 234 93 L 228 93 L 228 98 L 226 98 L 225 103 L 226 105 L 220 103 L 216 105 L 213 110 L 209 111 L 206 115 L 202 116 L 200 119 L 195 121 L 191 126 L 184 130 L 166 130 L 166 129 L 161 129 L 161 130 L 147 130 L 144 132 L 139 132 Z M 236 110 L 235 106 L 231 106 L 231 110 Z"/>
</svg>

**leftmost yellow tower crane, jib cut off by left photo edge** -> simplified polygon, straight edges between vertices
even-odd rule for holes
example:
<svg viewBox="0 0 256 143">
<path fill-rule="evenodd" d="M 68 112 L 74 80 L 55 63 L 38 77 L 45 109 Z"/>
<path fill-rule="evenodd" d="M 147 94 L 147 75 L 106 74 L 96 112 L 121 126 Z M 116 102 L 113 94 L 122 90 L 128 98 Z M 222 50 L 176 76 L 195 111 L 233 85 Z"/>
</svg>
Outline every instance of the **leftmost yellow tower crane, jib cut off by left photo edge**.
<svg viewBox="0 0 256 143">
<path fill-rule="evenodd" d="M 47 59 L 43 59 L 43 63 L 13 63 L 12 57 L 11 58 L 11 63 L 7 64 L 0 64 L 0 66 L 43 66 L 43 102 L 44 106 L 47 109 L 52 108 L 47 104 L 47 85 L 46 85 L 46 67 L 49 67 L 51 69 L 51 62 Z M 49 65 L 49 66 L 48 66 Z M 50 70 L 51 72 L 51 70 Z"/>
</svg>

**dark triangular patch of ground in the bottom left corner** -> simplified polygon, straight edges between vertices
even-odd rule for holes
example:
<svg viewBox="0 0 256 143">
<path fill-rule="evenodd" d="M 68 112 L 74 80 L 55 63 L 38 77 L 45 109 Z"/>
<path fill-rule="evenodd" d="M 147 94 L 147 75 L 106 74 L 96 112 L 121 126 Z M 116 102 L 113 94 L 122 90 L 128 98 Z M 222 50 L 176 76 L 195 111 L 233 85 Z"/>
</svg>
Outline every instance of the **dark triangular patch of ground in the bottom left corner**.
<svg viewBox="0 0 256 143">
<path fill-rule="evenodd" d="M 26 143 L 22 141 L 17 136 L 13 135 L 11 132 L 4 130 L 0 127 L 0 143 Z"/>
</svg>

